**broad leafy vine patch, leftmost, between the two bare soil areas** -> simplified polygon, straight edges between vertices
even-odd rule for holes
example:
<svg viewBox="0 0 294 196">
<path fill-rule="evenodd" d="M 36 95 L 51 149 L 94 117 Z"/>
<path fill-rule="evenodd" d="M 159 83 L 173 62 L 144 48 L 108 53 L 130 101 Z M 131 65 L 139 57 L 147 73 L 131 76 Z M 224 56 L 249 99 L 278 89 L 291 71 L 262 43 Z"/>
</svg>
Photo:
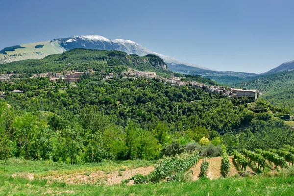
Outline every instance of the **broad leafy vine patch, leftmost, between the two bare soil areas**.
<svg viewBox="0 0 294 196">
<path fill-rule="evenodd" d="M 192 156 L 185 159 L 172 158 L 161 161 L 148 175 L 136 174 L 131 179 L 135 184 L 147 182 L 160 182 L 162 179 L 176 180 L 179 174 L 188 171 L 198 162 L 199 153 L 196 152 Z"/>
</svg>

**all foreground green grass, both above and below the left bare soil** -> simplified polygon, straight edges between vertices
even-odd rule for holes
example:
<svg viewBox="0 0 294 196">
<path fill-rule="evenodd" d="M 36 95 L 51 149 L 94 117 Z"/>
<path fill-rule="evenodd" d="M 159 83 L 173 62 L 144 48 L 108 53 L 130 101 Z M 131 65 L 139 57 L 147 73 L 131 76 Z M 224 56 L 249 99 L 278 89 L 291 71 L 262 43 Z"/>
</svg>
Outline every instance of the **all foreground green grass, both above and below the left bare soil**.
<svg viewBox="0 0 294 196">
<path fill-rule="evenodd" d="M 99 164 L 69 165 L 49 161 L 9 159 L 0 161 L 0 196 L 73 195 L 73 196 L 292 196 L 294 168 L 267 172 L 248 177 L 230 177 L 198 181 L 101 186 L 95 184 L 66 184 L 50 179 L 12 177 L 15 172 L 33 172 L 34 176 L 49 172 L 121 170 L 137 168 L 154 162 L 104 161 Z M 4 171 L 5 165 L 5 171 Z M 35 176 L 36 177 L 36 176 Z"/>
</svg>

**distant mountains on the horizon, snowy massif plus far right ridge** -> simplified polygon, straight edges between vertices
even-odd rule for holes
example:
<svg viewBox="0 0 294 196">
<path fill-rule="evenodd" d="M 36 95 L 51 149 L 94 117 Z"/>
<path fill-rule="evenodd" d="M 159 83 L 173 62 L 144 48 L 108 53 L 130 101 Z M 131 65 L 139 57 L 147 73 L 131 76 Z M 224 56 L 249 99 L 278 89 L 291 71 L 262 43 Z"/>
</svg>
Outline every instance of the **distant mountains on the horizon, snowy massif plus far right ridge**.
<svg viewBox="0 0 294 196">
<path fill-rule="evenodd" d="M 168 65 L 168 68 L 173 72 L 185 74 L 200 74 L 206 77 L 213 78 L 216 81 L 221 81 L 220 77 L 245 78 L 258 75 L 256 73 L 218 72 L 196 64 L 178 61 L 173 57 L 151 51 L 131 40 L 109 40 L 99 35 L 73 36 L 69 38 L 53 39 L 51 41 L 7 47 L 0 50 L 0 63 L 9 63 L 25 59 L 41 59 L 50 54 L 62 53 L 64 51 L 75 48 L 120 50 L 128 54 L 137 54 L 139 56 L 154 54 L 162 58 L 164 62 Z M 293 69 L 294 61 L 291 61 L 283 63 L 279 67 L 270 70 L 268 73 Z"/>
</svg>

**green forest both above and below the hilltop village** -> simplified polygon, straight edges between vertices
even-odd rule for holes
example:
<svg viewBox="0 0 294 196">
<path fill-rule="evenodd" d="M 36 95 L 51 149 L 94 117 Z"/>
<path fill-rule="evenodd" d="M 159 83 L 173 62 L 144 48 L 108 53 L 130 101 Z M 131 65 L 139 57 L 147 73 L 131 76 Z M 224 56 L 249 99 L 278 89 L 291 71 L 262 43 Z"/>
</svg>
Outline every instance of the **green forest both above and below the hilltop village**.
<svg viewBox="0 0 294 196">
<path fill-rule="evenodd" d="M 29 76 L 92 68 L 119 74 L 127 67 L 171 74 L 153 55 L 86 49 L 4 64 L 0 70 Z M 232 154 L 243 148 L 294 145 L 292 131 L 275 118 L 289 111 L 263 99 L 221 97 L 156 78 L 102 78 L 100 72 L 84 74 L 75 86 L 46 77 L 0 83 L 0 91 L 6 92 L 0 102 L 0 158 L 76 164 L 155 160 L 195 149 L 219 156 L 223 147 Z M 200 76 L 187 78 L 211 82 Z M 10 92 L 15 89 L 24 93 Z"/>
</svg>

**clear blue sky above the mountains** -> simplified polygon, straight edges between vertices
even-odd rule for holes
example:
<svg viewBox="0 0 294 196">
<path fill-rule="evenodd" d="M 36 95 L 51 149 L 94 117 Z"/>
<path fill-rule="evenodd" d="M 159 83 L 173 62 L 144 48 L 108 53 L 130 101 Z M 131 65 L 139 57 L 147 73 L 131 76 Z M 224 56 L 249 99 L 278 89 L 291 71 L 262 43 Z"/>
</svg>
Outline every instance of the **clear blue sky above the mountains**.
<svg viewBox="0 0 294 196">
<path fill-rule="evenodd" d="M 294 60 L 292 0 L 5 0 L 0 48 L 74 35 L 129 39 L 218 71 Z"/>
</svg>

